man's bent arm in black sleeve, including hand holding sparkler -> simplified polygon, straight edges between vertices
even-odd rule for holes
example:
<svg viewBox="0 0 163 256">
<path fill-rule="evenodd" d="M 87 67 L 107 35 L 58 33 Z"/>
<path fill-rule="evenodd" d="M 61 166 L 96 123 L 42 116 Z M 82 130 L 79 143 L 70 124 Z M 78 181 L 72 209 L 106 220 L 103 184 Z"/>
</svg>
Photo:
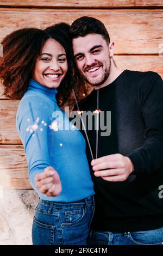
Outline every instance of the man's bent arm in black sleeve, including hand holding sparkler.
<svg viewBox="0 0 163 256">
<path fill-rule="evenodd" d="M 151 74 L 150 84 L 140 92 L 145 143 L 127 156 L 114 154 L 93 160 L 95 176 L 107 181 L 124 181 L 133 171 L 135 175 L 149 174 L 163 166 L 163 81 L 158 74 Z"/>
</svg>

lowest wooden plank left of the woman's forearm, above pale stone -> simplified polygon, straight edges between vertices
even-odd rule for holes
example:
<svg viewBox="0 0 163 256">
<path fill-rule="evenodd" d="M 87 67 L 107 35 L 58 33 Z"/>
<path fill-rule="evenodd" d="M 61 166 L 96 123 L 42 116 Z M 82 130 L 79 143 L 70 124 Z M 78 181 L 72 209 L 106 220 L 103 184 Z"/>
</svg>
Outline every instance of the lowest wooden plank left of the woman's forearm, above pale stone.
<svg viewBox="0 0 163 256">
<path fill-rule="evenodd" d="M 1 145 L 0 186 L 4 189 L 30 189 L 28 168 L 23 146 Z"/>
</svg>

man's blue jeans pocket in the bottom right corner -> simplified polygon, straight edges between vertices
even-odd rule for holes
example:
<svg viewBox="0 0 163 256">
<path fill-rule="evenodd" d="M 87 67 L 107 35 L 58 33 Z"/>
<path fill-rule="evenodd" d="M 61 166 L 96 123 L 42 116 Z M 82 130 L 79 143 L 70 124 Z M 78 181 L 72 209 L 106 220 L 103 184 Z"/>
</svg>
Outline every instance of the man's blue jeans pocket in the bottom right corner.
<svg viewBox="0 0 163 256">
<path fill-rule="evenodd" d="M 129 233 L 129 238 L 136 245 L 162 245 L 163 231 L 162 228 L 147 231 L 135 231 Z"/>
</svg>

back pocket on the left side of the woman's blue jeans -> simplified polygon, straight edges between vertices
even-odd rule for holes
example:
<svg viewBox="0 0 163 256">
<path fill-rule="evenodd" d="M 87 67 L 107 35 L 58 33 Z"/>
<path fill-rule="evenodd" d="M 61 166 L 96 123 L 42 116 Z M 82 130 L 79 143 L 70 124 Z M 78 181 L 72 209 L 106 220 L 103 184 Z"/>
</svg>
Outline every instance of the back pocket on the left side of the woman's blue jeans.
<svg viewBox="0 0 163 256">
<path fill-rule="evenodd" d="M 54 245 L 55 226 L 43 224 L 34 217 L 32 227 L 33 245 Z"/>
</svg>

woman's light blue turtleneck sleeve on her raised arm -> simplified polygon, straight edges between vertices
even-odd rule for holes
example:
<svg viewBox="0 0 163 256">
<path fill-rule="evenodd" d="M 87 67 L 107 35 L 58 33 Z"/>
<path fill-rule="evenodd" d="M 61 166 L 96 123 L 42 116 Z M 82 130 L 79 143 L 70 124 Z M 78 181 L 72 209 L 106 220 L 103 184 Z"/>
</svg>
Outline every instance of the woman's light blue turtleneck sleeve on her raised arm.
<svg viewBox="0 0 163 256">
<path fill-rule="evenodd" d="M 50 165 L 47 136 L 49 120 L 45 100 L 30 96 L 20 103 L 16 125 L 28 162 L 29 181 L 36 192 L 39 190 L 35 185 L 35 175 Z"/>
</svg>

